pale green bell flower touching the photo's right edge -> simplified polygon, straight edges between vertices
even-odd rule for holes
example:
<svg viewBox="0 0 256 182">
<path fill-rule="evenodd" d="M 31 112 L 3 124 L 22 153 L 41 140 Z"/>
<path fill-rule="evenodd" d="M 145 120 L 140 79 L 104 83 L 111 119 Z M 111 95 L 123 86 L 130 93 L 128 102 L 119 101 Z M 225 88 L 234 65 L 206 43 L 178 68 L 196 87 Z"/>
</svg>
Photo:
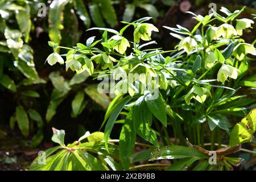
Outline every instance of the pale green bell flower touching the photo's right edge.
<svg viewBox="0 0 256 182">
<path fill-rule="evenodd" d="M 252 44 L 239 43 L 234 47 L 233 55 L 240 61 L 247 55 L 247 53 L 254 56 L 256 55 L 256 50 Z"/>
</svg>

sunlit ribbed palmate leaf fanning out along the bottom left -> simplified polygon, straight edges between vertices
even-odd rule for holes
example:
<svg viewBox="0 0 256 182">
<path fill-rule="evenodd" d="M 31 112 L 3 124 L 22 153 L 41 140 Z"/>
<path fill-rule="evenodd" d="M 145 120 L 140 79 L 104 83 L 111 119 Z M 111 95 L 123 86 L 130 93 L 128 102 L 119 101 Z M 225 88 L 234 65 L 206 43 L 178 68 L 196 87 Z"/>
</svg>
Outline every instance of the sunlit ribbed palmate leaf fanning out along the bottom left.
<svg viewBox="0 0 256 182">
<path fill-rule="evenodd" d="M 30 170 L 106 171 L 109 167 L 112 170 L 122 169 L 114 160 L 118 156 L 118 146 L 115 144 L 109 143 L 108 151 L 104 142 L 74 142 L 64 146 L 64 135 L 64 130 L 55 129 L 52 139 L 61 146 L 49 148 L 43 155 L 38 156 L 32 162 Z"/>
</svg>

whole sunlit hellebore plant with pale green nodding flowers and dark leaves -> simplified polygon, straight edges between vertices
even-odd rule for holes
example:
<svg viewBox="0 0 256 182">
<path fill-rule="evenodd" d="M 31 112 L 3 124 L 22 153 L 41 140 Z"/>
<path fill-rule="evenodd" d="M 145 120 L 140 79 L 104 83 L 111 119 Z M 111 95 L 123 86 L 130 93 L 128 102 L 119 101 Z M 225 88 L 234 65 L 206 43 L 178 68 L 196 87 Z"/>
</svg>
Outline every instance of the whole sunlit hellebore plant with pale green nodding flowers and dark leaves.
<svg viewBox="0 0 256 182">
<path fill-rule="evenodd" d="M 151 40 L 151 32 L 158 32 L 154 25 L 144 23 L 150 20 L 148 17 L 122 22 L 126 26 L 119 32 L 91 28 L 104 31 L 102 38 L 89 38 L 86 44 L 73 48 L 50 42 L 54 49 L 68 50 L 66 69 L 113 77 L 117 84 L 112 94 L 116 96 L 102 122 L 104 133 L 86 133 L 65 146 L 64 131 L 54 132 L 53 142 L 60 147 L 47 151 L 46 165 L 38 166 L 35 160 L 31 169 L 231 170 L 238 166 L 241 158 L 226 155 L 243 150 L 241 144 L 250 142 L 256 130 L 255 100 L 238 94 L 242 86 L 256 87 L 255 76 L 245 78 L 256 51 L 253 44 L 241 38 L 253 20 L 236 19 L 243 9 L 231 13 L 222 7 L 220 11 L 224 16 L 215 11 L 206 16 L 189 12 L 198 21 L 192 31 L 179 25 L 164 26 L 180 39 L 172 51 L 144 48 L 156 42 L 141 40 Z M 125 38 L 129 26 L 134 27 L 133 42 Z M 57 55 L 47 61 L 51 65 L 62 63 Z M 130 81 L 125 76 L 129 73 L 138 77 Z M 125 93 L 121 92 L 124 86 L 128 88 Z M 236 124 L 238 120 L 234 121 L 232 115 L 246 117 Z M 118 140 L 110 139 L 114 125 L 122 125 Z M 138 143 L 137 135 L 147 143 Z M 88 142 L 82 142 L 84 139 Z M 229 144 L 221 148 L 222 142 Z M 135 145 L 148 148 L 140 151 L 140 159 L 134 153 Z M 60 151 L 51 155 L 56 150 Z M 215 158 L 211 162 L 208 159 L 212 154 Z M 172 164 L 135 165 L 141 160 L 160 159 L 172 159 Z"/>
</svg>

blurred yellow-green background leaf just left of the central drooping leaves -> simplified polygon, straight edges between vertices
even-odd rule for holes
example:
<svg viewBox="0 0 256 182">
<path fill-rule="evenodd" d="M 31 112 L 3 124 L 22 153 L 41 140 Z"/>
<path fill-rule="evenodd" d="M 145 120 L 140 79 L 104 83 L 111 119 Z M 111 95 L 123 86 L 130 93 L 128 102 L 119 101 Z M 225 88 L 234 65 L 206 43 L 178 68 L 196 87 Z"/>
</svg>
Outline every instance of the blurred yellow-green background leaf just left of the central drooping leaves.
<svg viewBox="0 0 256 182">
<path fill-rule="evenodd" d="M 90 85 L 84 89 L 84 92 L 98 105 L 102 106 L 103 109 L 107 109 L 110 101 L 109 97 L 105 93 L 99 93 L 97 85 Z"/>
</svg>

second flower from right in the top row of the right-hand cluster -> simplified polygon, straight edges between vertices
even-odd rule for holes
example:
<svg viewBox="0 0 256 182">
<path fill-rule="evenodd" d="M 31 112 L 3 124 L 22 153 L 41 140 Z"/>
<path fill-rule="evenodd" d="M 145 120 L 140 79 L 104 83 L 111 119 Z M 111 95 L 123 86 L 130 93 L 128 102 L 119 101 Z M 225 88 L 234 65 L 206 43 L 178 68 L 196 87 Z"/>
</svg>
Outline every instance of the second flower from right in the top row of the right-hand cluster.
<svg viewBox="0 0 256 182">
<path fill-rule="evenodd" d="M 214 37 L 219 38 L 222 36 L 224 39 L 230 39 L 232 35 L 237 35 L 236 29 L 231 24 L 222 24 L 220 27 L 218 27 L 216 36 Z"/>
</svg>

